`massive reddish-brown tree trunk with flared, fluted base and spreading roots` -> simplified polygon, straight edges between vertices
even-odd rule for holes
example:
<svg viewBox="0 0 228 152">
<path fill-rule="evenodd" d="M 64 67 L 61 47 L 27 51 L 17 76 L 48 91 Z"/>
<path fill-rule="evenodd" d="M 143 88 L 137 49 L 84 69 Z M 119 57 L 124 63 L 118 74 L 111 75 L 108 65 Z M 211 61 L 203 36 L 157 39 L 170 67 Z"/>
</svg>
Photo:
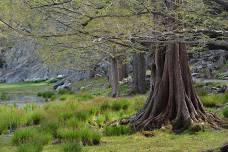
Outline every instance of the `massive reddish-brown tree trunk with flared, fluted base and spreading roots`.
<svg viewBox="0 0 228 152">
<path fill-rule="evenodd" d="M 170 43 L 156 51 L 154 83 L 144 108 L 122 123 L 130 123 L 135 131 L 171 123 L 174 131 L 183 131 L 194 123 L 217 127 L 221 122 L 204 110 L 193 88 L 185 44 Z"/>
</svg>

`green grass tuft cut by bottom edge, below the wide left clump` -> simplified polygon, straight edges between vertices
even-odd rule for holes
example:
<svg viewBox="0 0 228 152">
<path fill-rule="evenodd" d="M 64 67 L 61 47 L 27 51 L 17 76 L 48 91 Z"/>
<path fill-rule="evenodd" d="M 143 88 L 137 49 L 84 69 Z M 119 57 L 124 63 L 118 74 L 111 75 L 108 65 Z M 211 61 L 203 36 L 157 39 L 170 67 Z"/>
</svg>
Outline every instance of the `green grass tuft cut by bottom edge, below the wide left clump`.
<svg viewBox="0 0 228 152">
<path fill-rule="evenodd" d="M 17 152 L 41 152 L 43 150 L 43 146 L 37 143 L 27 143 L 21 144 Z"/>
</svg>

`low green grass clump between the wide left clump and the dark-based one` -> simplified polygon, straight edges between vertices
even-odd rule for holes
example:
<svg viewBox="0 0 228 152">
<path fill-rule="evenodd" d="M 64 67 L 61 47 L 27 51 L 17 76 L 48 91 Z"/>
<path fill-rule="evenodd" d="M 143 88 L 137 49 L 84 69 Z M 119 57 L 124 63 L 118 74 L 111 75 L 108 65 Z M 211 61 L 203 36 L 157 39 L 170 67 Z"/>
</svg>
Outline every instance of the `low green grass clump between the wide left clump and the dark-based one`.
<svg viewBox="0 0 228 152">
<path fill-rule="evenodd" d="M 78 142 L 80 133 L 76 130 L 61 128 L 57 130 L 57 137 L 63 142 Z"/>
</svg>

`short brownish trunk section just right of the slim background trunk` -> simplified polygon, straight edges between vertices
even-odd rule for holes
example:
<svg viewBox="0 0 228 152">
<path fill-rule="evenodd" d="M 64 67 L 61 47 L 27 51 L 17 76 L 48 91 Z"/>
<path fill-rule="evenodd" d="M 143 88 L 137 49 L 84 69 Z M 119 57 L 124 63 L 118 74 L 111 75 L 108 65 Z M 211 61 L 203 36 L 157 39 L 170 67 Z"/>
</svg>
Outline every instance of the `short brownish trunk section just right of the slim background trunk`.
<svg viewBox="0 0 228 152">
<path fill-rule="evenodd" d="M 127 65 L 123 62 L 123 58 L 118 59 L 118 80 L 122 81 L 124 78 L 127 77 Z"/>
</svg>

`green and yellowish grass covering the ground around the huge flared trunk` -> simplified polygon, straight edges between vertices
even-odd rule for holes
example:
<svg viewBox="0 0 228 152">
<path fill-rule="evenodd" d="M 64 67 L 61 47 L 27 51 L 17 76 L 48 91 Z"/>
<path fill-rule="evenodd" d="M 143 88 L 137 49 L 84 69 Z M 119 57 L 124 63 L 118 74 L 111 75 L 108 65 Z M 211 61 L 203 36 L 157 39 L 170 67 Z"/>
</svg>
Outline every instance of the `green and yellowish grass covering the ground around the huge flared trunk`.
<svg viewBox="0 0 228 152">
<path fill-rule="evenodd" d="M 117 99 L 106 97 L 109 89 L 104 79 L 100 78 L 74 85 L 85 87 L 79 93 L 56 93 L 55 100 L 43 106 L 0 106 L 0 151 L 27 152 L 32 149 L 34 152 L 195 152 L 216 148 L 228 142 L 228 130 L 176 135 L 160 129 L 155 130 L 154 136 L 148 138 L 141 133 L 132 133 L 127 126 L 109 126 L 107 124 L 110 122 L 129 117 L 140 110 L 146 96 Z M 127 90 L 126 86 L 123 88 Z M 226 115 L 224 108 L 216 107 L 227 103 L 227 95 L 201 96 L 205 105 L 209 103 L 210 111 L 219 112 L 221 117 Z M 214 101 L 216 102 L 213 103 Z M 8 135 L 10 129 L 15 130 L 12 137 Z M 53 141 L 59 142 L 54 145 L 51 144 Z"/>
</svg>

